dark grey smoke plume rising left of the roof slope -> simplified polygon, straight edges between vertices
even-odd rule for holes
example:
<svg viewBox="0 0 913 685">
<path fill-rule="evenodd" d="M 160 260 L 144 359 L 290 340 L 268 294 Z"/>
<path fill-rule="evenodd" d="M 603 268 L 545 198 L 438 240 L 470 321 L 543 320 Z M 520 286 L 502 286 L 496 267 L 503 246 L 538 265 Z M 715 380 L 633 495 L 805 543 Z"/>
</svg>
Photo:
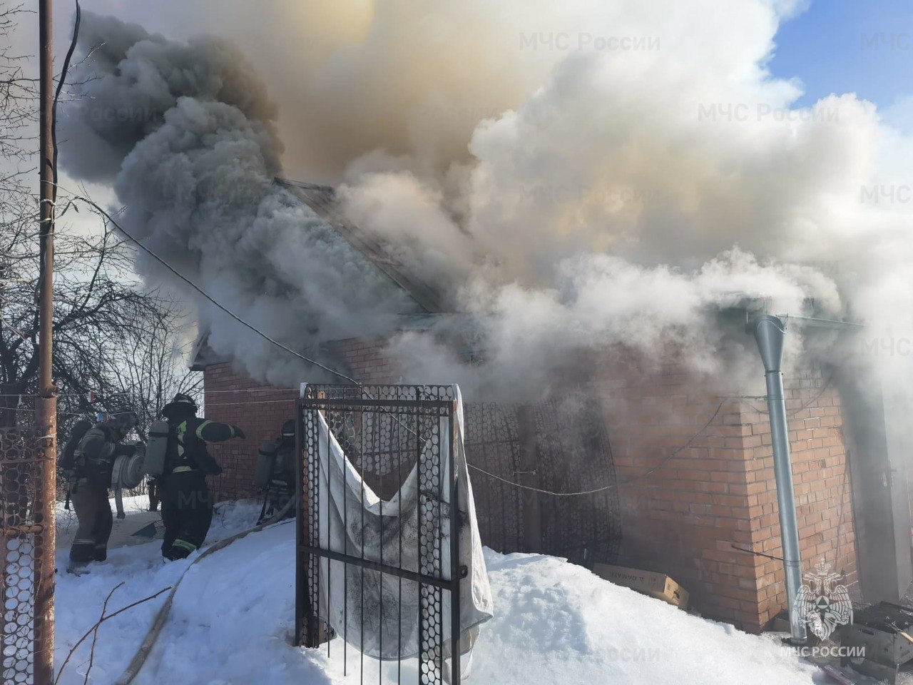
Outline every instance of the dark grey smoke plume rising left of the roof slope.
<svg viewBox="0 0 913 685">
<path fill-rule="evenodd" d="M 403 293 L 298 199 L 278 174 L 276 109 L 223 42 L 178 44 L 83 18 L 97 47 L 85 97 L 62 122 L 69 173 L 114 184 L 123 227 L 246 321 L 289 346 L 390 330 Z M 168 279 L 140 253 L 147 279 Z M 181 282 L 168 279 L 178 288 Z M 216 353 L 276 383 L 304 366 L 184 287 Z"/>
</svg>

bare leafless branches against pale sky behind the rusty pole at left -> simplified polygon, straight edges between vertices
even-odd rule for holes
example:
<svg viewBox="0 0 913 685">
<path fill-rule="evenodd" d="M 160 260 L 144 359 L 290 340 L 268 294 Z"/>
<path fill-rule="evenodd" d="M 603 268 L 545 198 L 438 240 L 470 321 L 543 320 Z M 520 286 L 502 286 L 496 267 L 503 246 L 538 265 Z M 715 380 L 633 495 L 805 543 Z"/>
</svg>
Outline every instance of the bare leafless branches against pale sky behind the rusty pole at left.
<svg viewBox="0 0 913 685">
<path fill-rule="evenodd" d="M 0 46 L 7 46 L 0 47 L 0 428 L 31 422 L 38 369 L 38 204 L 29 183 L 37 168 L 37 80 L 28 77 L 26 57 L 8 47 L 26 11 L 25 4 L 0 7 Z M 75 416 L 98 409 L 149 419 L 169 393 L 200 383 L 182 366 L 177 346 L 187 331 L 179 305 L 143 290 L 133 248 L 102 217 L 91 236 L 59 223 L 75 209 L 66 203 L 58 193 L 58 427 L 66 432 Z"/>
</svg>

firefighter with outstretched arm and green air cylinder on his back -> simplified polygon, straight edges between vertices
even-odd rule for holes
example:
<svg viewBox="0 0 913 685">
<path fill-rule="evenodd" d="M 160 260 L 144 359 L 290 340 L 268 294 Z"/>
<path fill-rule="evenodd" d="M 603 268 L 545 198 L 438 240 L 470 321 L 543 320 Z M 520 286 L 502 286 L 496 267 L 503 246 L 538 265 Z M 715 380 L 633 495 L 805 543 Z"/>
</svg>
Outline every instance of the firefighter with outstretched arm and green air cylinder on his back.
<svg viewBox="0 0 913 685">
<path fill-rule="evenodd" d="M 168 422 L 168 451 L 159 479 L 165 526 L 162 555 L 184 559 L 203 544 L 213 521 L 206 476 L 216 476 L 222 468 L 206 451 L 206 443 L 246 436 L 239 427 L 199 418 L 193 398 L 180 393 L 163 407 L 162 416 Z"/>
</svg>

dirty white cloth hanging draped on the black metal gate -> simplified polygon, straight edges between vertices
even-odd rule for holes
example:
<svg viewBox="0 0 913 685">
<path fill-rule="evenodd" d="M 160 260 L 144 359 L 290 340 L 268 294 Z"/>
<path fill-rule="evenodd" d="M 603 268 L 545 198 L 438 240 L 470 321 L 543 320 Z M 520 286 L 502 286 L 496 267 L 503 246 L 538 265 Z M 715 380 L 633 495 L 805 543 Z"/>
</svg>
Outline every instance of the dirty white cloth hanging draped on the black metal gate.
<svg viewBox="0 0 913 685">
<path fill-rule="evenodd" d="M 475 641 L 479 624 L 492 617 L 491 588 L 478 537 L 476 508 L 463 449 L 463 404 L 456 388 L 456 444 L 453 458 L 457 479 L 457 506 L 462 523 L 459 531 L 459 564 L 467 567 L 460 581 L 460 652 L 467 653 Z M 440 536 L 440 569 L 437 577 L 450 578 L 450 482 L 448 447 L 450 435 L 446 417 L 439 419 L 437 436 L 440 449 L 434 455 L 432 437 L 421 437 L 423 455 L 419 463 L 436 459 L 442 474 L 442 496 L 419 492 L 418 464 L 404 479 L 400 490 L 389 501 L 371 490 L 352 462 L 345 457 L 339 442 L 322 413 L 320 424 L 320 547 L 373 562 L 418 572 L 418 518 Z M 330 501 L 327 501 L 327 493 Z M 362 499 L 363 497 L 363 499 Z M 438 516 L 438 512 L 439 516 Z M 363 544 L 362 544 L 363 542 Z M 438 545 L 436 545 L 438 546 Z M 429 550 L 429 554 L 438 554 Z M 430 556 L 429 556 L 430 558 Z M 427 562 L 425 562 L 426 564 Z M 428 569 L 422 570 L 424 574 Z M 363 582 L 362 582 L 363 578 Z M 328 602 L 328 595 L 331 601 Z M 450 593 L 440 591 L 437 612 L 425 609 L 423 620 L 431 627 L 436 642 L 437 626 L 443 635 L 443 656 L 449 657 Z M 438 615 L 439 614 L 439 615 Z M 407 659 L 419 653 L 419 586 L 415 581 L 394 574 L 381 574 L 355 564 L 343 564 L 320 557 L 320 617 L 329 617 L 337 635 L 345 638 L 363 654 L 377 659 Z M 363 616 L 363 620 L 362 620 Z M 426 628 L 427 630 L 428 628 Z M 425 646 L 427 648 L 427 645 Z"/>
</svg>

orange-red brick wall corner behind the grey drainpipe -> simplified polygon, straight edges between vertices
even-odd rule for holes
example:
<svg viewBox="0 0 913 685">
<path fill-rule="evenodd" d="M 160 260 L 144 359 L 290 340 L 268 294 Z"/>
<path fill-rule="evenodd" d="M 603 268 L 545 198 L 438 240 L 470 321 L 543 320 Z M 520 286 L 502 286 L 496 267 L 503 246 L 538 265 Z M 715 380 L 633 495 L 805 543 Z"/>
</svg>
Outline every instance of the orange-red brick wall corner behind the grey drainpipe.
<svg viewBox="0 0 913 685">
<path fill-rule="evenodd" d="M 782 563 L 733 544 L 782 556 L 766 403 L 740 398 L 747 393 L 737 383 L 720 381 L 728 374 L 651 367 L 617 353 L 598 364 L 594 387 L 620 482 L 619 564 L 670 574 L 701 613 L 760 630 L 785 607 Z M 803 572 L 825 559 L 853 583 L 839 397 L 818 370 L 789 375 L 785 385 Z"/>
</svg>

